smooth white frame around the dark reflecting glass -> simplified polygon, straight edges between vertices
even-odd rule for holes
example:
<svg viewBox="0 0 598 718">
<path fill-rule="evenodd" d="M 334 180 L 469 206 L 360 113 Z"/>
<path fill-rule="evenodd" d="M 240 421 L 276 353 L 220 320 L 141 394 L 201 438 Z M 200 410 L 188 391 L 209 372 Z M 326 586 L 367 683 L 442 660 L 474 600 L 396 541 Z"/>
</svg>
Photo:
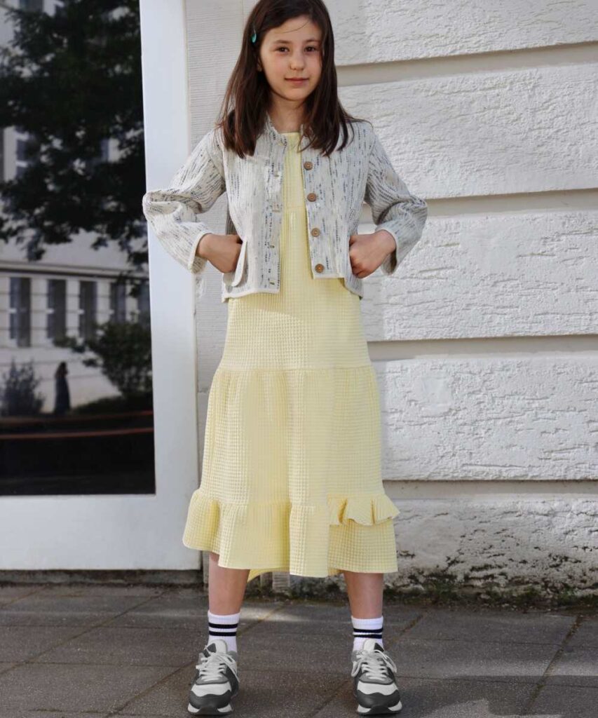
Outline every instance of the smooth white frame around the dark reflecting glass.
<svg viewBox="0 0 598 718">
<path fill-rule="evenodd" d="M 140 10 L 147 187 L 163 187 L 192 149 L 185 5 L 141 0 Z M 182 543 L 199 476 L 195 279 L 151 234 L 149 281 L 156 493 L 3 496 L 0 569 L 200 567 Z"/>
</svg>

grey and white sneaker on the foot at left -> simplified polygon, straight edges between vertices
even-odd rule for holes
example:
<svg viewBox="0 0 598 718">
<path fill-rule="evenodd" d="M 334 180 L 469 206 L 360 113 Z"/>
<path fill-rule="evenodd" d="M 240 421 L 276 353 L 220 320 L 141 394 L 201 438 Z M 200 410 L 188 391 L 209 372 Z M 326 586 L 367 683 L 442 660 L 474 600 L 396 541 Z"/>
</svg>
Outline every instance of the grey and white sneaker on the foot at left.
<svg viewBox="0 0 598 718">
<path fill-rule="evenodd" d="M 210 716 L 230 713 L 230 699 L 239 691 L 237 661 L 237 651 L 229 651 L 222 638 L 207 643 L 195 666 L 187 711 Z"/>
</svg>

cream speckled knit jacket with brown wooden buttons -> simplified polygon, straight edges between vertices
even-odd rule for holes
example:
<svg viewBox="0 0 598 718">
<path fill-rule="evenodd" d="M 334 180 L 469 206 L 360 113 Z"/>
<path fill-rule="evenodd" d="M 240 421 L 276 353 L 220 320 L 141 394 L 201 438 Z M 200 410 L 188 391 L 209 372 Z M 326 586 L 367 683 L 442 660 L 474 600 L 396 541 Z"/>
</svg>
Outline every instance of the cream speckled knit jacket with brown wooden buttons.
<svg viewBox="0 0 598 718">
<path fill-rule="evenodd" d="M 303 131 L 301 126 L 300 131 Z M 376 230 L 386 229 L 396 249 L 381 265 L 393 274 L 421 237 L 428 208 L 412 195 L 398 177 L 373 126 L 352 123 L 349 144 L 330 157 L 302 143 L 302 173 L 307 210 L 309 256 L 314 279 L 342 277 L 350 292 L 363 297 L 363 280 L 352 273 L 349 238 L 357 233 L 365 201 L 372 210 Z M 339 137 L 337 146 L 342 141 Z M 242 242 L 234 271 L 223 273 L 222 302 L 253 292 L 279 292 L 279 236 L 281 229 L 282 175 L 286 136 L 276 130 L 266 113 L 264 131 L 253 156 L 241 159 L 224 149 L 219 129 L 210 130 L 164 190 L 143 197 L 144 215 L 162 246 L 179 264 L 198 275 L 204 292 L 207 260 L 196 255 L 206 233 L 217 233 L 199 215 L 226 192 L 228 210 L 225 234 Z"/>
</svg>

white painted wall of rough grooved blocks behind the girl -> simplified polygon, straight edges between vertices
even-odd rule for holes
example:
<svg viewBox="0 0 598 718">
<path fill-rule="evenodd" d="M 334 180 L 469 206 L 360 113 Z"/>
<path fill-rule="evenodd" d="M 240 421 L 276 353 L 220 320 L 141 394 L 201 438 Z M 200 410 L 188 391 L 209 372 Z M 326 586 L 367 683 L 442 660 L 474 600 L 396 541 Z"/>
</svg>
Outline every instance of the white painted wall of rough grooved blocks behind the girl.
<svg viewBox="0 0 598 718">
<path fill-rule="evenodd" d="M 187 4 L 195 138 L 252 5 Z M 366 279 L 362 302 L 383 475 L 401 510 L 388 579 L 587 591 L 598 568 L 595 3 L 327 6 L 342 103 L 373 121 L 430 207 L 419 245 L 395 276 Z M 212 210 L 222 228 L 224 210 Z M 371 229 L 364 207 L 360 232 Z M 208 271 L 201 430 L 226 320 Z"/>
</svg>

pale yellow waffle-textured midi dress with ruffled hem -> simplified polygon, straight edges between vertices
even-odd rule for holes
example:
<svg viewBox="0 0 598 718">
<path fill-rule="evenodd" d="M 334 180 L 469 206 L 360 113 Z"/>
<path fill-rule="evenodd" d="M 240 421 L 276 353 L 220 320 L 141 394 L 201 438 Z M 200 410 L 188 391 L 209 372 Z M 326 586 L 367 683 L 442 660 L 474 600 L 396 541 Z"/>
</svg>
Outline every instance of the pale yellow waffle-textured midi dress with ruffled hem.
<svg viewBox="0 0 598 718">
<path fill-rule="evenodd" d="M 380 475 L 360 299 L 340 278 L 312 276 L 299 132 L 284 134 L 280 292 L 228 299 L 183 543 L 251 569 L 248 581 L 396 572 L 399 510 Z"/>
</svg>

